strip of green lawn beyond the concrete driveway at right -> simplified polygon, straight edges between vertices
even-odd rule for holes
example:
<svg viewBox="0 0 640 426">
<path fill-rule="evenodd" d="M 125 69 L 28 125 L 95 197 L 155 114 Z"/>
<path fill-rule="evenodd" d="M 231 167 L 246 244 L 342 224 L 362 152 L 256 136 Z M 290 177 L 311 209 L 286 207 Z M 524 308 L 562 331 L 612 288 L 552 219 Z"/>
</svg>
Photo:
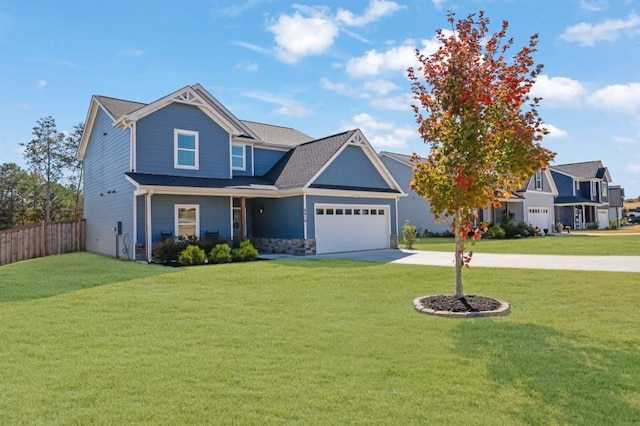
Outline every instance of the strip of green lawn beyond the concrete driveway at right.
<svg viewBox="0 0 640 426">
<path fill-rule="evenodd" d="M 400 247 L 403 247 L 400 242 Z M 453 238 L 419 238 L 416 250 L 454 252 Z M 468 250 L 477 253 L 498 254 L 554 254 L 580 256 L 640 256 L 640 234 L 634 235 L 580 235 L 563 234 L 510 240 L 482 239 L 468 243 Z"/>
</svg>

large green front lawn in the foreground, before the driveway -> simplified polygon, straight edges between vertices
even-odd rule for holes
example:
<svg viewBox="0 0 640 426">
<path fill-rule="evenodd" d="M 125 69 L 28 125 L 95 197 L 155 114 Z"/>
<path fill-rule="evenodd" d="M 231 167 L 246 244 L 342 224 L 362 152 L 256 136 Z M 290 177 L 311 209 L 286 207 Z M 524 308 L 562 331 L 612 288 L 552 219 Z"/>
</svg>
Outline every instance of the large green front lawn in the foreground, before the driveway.
<svg viewBox="0 0 640 426">
<path fill-rule="evenodd" d="M 467 320 L 412 308 L 452 268 L 345 260 L 78 253 L 0 267 L 3 291 L 56 262 L 91 288 L 0 303 L 0 424 L 640 422 L 640 274 L 471 268 L 512 312 Z"/>
</svg>

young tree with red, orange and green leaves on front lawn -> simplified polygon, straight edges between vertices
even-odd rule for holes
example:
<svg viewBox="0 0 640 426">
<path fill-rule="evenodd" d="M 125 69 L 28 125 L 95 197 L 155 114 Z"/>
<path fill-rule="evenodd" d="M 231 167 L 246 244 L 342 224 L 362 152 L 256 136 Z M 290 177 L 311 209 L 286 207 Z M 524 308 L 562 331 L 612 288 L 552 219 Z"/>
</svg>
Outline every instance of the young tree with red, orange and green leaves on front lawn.
<svg viewBox="0 0 640 426">
<path fill-rule="evenodd" d="M 418 132 L 429 155 L 417 154 L 412 189 L 431 204 L 434 216 L 452 220 L 455 235 L 456 297 L 464 297 L 462 267 L 477 209 L 500 206 L 526 180 L 547 167 L 555 153 L 540 145 L 548 133 L 536 110 L 539 99 L 529 91 L 542 65 L 534 65 L 538 35 L 507 60 L 513 39 L 505 40 L 508 23 L 489 35 L 483 12 L 456 22 L 453 33 L 438 30 L 440 48 L 409 68 Z M 423 113 L 424 111 L 424 113 Z"/>
</svg>

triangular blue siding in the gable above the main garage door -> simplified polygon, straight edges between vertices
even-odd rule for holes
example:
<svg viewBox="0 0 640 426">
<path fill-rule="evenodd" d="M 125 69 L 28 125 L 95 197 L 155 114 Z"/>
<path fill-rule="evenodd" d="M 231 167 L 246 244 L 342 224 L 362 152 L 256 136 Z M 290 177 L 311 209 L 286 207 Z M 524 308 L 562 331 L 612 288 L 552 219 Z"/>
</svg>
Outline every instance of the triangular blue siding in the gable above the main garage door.
<svg viewBox="0 0 640 426">
<path fill-rule="evenodd" d="M 347 146 L 313 183 L 316 185 L 390 188 L 362 148 L 357 146 Z"/>
</svg>

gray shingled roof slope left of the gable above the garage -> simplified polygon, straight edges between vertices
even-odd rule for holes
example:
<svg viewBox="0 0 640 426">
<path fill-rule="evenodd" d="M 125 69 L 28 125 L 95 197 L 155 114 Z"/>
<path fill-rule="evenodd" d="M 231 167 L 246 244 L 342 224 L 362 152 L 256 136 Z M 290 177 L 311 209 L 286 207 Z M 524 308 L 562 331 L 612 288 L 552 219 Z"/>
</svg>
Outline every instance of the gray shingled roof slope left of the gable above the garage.
<svg viewBox="0 0 640 426">
<path fill-rule="evenodd" d="M 298 145 L 269 172 L 278 189 L 304 187 L 357 130 Z"/>
</svg>

